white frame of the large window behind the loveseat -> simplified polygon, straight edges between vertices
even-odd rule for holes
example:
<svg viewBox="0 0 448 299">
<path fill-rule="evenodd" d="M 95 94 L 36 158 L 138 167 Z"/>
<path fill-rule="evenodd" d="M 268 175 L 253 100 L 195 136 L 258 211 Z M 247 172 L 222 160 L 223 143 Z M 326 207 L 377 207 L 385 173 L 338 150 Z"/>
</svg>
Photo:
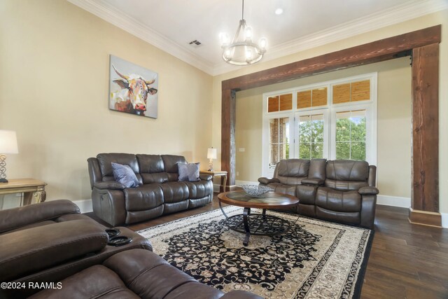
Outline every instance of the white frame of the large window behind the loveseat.
<svg viewBox="0 0 448 299">
<path fill-rule="evenodd" d="M 347 102 L 340 104 L 332 103 L 332 86 L 343 83 L 370 80 L 370 99 L 359 102 Z M 359 76 L 351 76 L 332 81 L 304 85 L 297 88 L 276 90 L 274 92 L 263 93 L 263 113 L 262 113 L 262 176 L 272 177 L 274 169 L 269 167 L 269 119 L 289 118 L 289 153 L 290 158 L 298 157 L 298 122 L 299 116 L 324 114 L 324 158 L 328 160 L 336 159 L 336 113 L 340 111 L 366 111 L 366 137 L 365 137 L 365 160 L 371 165 L 377 165 L 377 81 L 378 73 L 369 73 Z M 297 92 L 303 90 L 313 90 L 316 88 L 327 88 L 327 105 L 297 109 Z M 292 93 L 293 109 L 288 111 L 267 112 L 267 99 L 278 95 Z M 297 140 L 296 140 L 297 139 Z M 326 157 L 325 157 L 326 155 Z"/>
</svg>

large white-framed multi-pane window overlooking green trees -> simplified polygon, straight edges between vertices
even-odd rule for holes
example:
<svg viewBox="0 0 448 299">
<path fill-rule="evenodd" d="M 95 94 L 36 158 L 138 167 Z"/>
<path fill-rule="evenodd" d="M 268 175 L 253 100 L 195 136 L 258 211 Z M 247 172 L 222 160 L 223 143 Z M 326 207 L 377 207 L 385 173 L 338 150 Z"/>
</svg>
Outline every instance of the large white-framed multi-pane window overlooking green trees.
<svg viewBox="0 0 448 299">
<path fill-rule="evenodd" d="M 263 95 L 263 176 L 288 158 L 376 164 L 377 73 Z"/>
</svg>

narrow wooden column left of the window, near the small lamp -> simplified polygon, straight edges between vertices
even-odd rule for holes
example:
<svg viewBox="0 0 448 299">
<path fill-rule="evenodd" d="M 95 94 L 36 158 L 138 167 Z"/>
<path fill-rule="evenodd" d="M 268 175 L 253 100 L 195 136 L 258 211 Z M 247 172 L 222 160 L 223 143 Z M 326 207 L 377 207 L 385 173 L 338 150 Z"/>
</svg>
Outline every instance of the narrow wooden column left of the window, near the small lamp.
<svg viewBox="0 0 448 299">
<path fill-rule="evenodd" d="M 228 172 L 228 191 L 235 186 L 235 114 L 237 95 L 236 90 L 223 90 L 222 118 L 221 118 L 221 169 Z"/>
</svg>

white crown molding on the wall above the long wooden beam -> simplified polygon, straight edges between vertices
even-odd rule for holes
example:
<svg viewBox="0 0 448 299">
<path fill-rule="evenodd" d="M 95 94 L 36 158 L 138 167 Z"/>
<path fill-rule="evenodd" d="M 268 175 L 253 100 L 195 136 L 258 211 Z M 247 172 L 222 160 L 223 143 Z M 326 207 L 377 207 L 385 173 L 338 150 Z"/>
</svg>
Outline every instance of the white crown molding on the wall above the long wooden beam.
<svg viewBox="0 0 448 299">
<path fill-rule="evenodd" d="M 414 0 L 407 2 L 406 4 L 394 6 L 393 8 L 367 15 L 367 17 L 351 20 L 350 22 L 331 27 L 330 29 L 302 36 L 300 39 L 281 43 L 278 46 L 267 49 L 267 53 L 263 57 L 262 62 L 323 46 L 358 34 L 372 32 L 400 22 L 419 18 L 423 15 L 443 11 L 447 8 L 448 1 L 446 0 Z M 241 68 L 225 63 L 216 64 L 213 68 L 213 75 L 216 76 Z"/>
</svg>

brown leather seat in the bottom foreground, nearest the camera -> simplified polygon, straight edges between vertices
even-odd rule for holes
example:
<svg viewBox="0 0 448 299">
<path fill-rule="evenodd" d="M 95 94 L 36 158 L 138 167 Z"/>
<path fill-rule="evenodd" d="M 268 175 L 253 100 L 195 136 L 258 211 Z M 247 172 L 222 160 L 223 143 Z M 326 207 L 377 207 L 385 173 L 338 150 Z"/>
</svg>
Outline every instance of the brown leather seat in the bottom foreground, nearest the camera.
<svg viewBox="0 0 448 299">
<path fill-rule="evenodd" d="M 223 293 L 201 284 L 157 254 L 142 249 L 117 253 L 60 281 L 60 288 L 57 286 L 30 298 L 261 298 L 244 291 Z"/>
</svg>

